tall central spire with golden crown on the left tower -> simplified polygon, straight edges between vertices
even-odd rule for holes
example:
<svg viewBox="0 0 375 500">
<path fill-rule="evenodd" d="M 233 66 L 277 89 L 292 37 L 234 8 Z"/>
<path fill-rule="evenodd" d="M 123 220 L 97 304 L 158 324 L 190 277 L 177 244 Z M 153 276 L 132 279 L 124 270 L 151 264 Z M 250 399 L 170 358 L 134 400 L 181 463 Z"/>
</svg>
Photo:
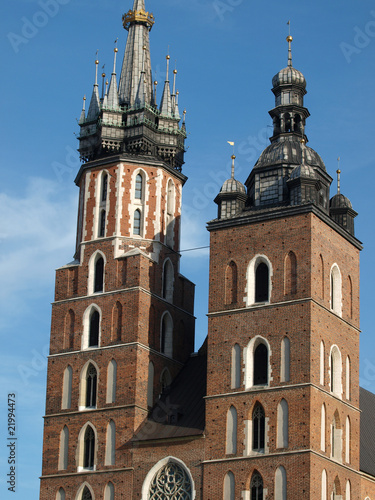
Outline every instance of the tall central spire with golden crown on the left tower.
<svg viewBox="0 0 375 500">
<path fill-rule="evenodd" d="M 133 10 L 129 10 L 124 14 L 122 20 L 124 28 L 129 31 L 129 35 L 119 83 L 120 103 L 134 106 L 137 97 L 139 98 L 140 86 L 144 85 L 145 102 L 152 105 L 149 31 L 155 22 L 154 16 L 146 12 L 144 0 L 135 0 Z M 142 75 L 142 72 L 144 72 L 144 75 Z M 143 79 L 142 82 L 141 79 Z"/>
</svg>

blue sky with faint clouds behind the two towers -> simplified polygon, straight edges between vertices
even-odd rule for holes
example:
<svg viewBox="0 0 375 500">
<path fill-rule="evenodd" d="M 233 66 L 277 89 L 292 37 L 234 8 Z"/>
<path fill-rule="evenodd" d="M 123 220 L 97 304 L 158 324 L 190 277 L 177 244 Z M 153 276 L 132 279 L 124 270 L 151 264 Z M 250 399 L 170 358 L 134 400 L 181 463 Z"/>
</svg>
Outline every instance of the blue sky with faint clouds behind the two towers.
<svg viewBox="0 0 375 500">
<path fill-rule="evenodd" d="M 43 7 L 44 6 L 44 7 Z M 287 63 L 291 20 L 293 64 L 307 80 L 309 146 L 359 212 L 361 255 L 360 382 L 375 392 L 372 321 L 375 280 L 374 120 L 375 9 L 362 0 L 146 0 L 154 78 L 165 55 L 178 70 L 180 109 L 187 109 L 181 248 L 204 247 L 213 203 L 230 176 L 246 179 L 271 135 L 272 76 Z M 2 182 L 0 187 L 0 495 L 37 499 L 41 473 L 46 354 L 54 269 L 74 252 L 79 168 L 76 153 L 84 94 L 94 60 L 112 68 L 114 40 L 122 59 L 121 16 L 132 0 L 16 0 L 2 9 Z M 120 60 L 118 60 L 118 72 Z M 159 96 L 161 86 L 159 85 Z M 335 187 L 331 195 L 335 194 Z M 197 284 L 197 347 L 207 329 L 208 252 L 184 252 L 182 272 Z M 17 393 L 17 492 L 6 490 L 6 398 Z"/>
</svg>

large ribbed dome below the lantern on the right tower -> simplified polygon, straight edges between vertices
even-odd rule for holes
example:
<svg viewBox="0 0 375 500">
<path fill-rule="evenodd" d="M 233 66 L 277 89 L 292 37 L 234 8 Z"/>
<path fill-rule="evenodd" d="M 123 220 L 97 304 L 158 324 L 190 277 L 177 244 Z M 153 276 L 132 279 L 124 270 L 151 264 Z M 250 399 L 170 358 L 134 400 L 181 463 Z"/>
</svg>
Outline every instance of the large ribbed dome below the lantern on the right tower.
<svg viewBox="0 0 375 500">
<path fill-rule="evenodd" d="M 260 155 L 254 168 L 280 165 L 283 163 L 291 165 L 308 165 L 318 167 L 326 171 L 323 160 L 316 151 L 304 146 L 304 158 L 302 161 L 302 146 L 298 137 L 285 141 L 275 141 L 270 144 Z"/>
</svg>

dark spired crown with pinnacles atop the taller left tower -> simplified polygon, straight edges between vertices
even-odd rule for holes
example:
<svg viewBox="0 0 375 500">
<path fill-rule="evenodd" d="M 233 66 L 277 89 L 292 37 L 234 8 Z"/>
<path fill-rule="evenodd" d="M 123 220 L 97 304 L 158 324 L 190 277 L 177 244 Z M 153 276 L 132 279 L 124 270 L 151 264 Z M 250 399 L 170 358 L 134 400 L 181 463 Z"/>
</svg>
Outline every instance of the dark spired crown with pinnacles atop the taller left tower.
<svg viewBox="0 0 375 500">
<path fill-rule="evenodd" d="M 89 110 L 81 112 L 79 152 L 86 163 L 119 153 L 141 155 L 162 160 L 181 171 L 185 153 L 185 120 L 180 125 L 177 70 L 174 70 L 173 91 L 169 86 L 169 59 L 160 107 L 153 89 L 149 32 L 155 19 L 146 11 L 144 0 L 135 0 L 133 9 L 123 15 L 128 31 L 119 84 L 117 85 L 114 49 L 113 72 L 108 90 L 100 99 L 98 65 L 95 61 L 95 83 Z M 116 40 L 117 42 L 117 40 Z"/>
</svg>

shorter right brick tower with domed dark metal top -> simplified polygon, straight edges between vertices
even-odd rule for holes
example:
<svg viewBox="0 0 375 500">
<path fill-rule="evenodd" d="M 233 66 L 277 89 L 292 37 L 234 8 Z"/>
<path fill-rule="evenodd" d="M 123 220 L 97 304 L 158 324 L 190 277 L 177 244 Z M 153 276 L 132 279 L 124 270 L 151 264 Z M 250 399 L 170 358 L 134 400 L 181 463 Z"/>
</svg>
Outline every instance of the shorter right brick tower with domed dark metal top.
<svg viewBox="0 0 375 500">
<path fill-rule="evenodd" d="M 356 213 L 306 145 L 287 41 L 271 144 L 246 188 L 233 157 L 208 225 L 204 499 L 361 498 Z"/>
</svg>

